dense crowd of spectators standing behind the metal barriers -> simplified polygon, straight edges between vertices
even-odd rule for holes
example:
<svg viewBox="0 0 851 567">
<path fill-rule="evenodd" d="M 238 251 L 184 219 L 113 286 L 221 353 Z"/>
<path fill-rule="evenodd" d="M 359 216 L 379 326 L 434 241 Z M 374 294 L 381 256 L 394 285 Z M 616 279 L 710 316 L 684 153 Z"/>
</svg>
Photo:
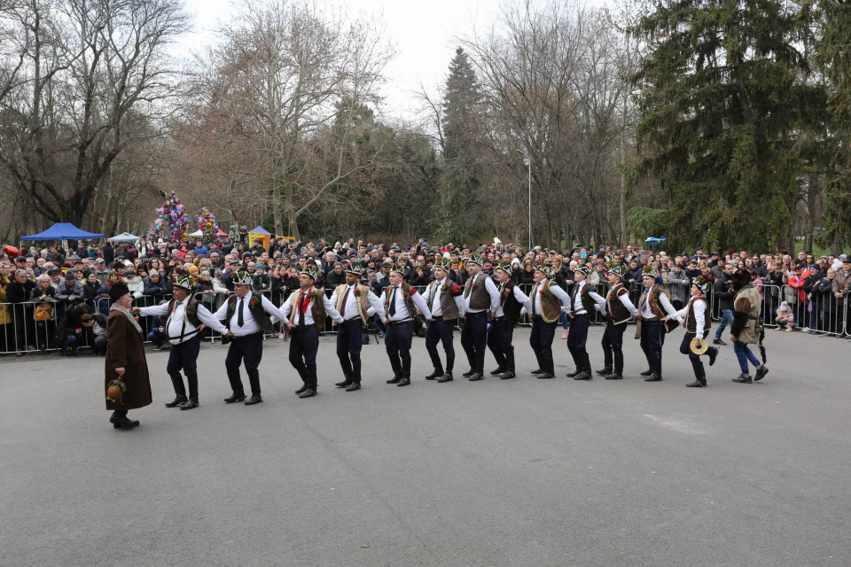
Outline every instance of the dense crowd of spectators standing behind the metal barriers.
<svg viewBox="0 0 851 567">
<path fill-rule="evenodd" d="M 5 246 L 4 250 L 10 247 Z M 414 245 L 373 245 L 363 240 L 330 244 L 324 240 L 302 244 L 286 239 L 272 241 L 267 250 L 260 241 L 241 243 L 193 241 L 156 243 L 141 238 L 135 244 L 105 245 L 75 243 L 69 250 L 55 245 L 35 246 L 14 256 L 0 256 L 0 353 L 58 349 L 63 355 L 79 355 L 79 346 L 92 346 L 95 353 L 105 349 L 102 324 L 110 307 L 109 290 L 114 283 L 126 283 L 138 306 L 150 306 L 170 298 L 174 276 L 190 278 L 196 297 L 211 310 L 233 292 L 231 274 L 245 269 L 254 275 L 254 291 L 269 295 L 276 305 L 299 287 L 299 269 L 307 262 L 320 268 L 317 287 L 328 291 L 345 282 L 347 262 L 359 262 L 363 281 L 380 295 L 389 283 L 391 264 L 401 265 L 405 280 L 426 286 L 433 281 L 433 263 L 443 257 L 450 261 L 449 277 L 464 284 L 468 275 L 465 259 L 479 252 L 485 259 L 485 273 L 493 275 L 499 261 L 511 261 L 515 283 L 531 286 L 535 265 L 549 264 L 554 280 L 566 291 L 574 283 L 574 269 L 589 266 L 589 283 L 605 286 L 608 268 L 622 264 L 628 272 L 624 283 L 637 300 L 645 269 L 659 273 L 675 308 L 688 301 L 691 280 L 704 276 L 713 283 L 713 316 L 721 320 L 716 340 L 732 321 L 731 277 L 741 269 L 754 276 L 754 285 L 763 298 L 766 325 L 778 330 L 800 329 L 841 335 L 848 317 L 845 300 L 851 286 L 851 260 L 798 252 L 753 253 L 729 251 L 673 256 L 667 252 L 599 246 L 574 245 L 566 252 L 536 246 L 524 250 L 498 240 L 493 245 L 429 245 L 421 239 Z M 12 257 L 14 256 L 14 257 Z M 158 348 L 163 345 L 160 321 L 140 321 L 145 335 Z M 378 318 L 373 322 L 383 330 Z M 424 323 L 424 322 L 423 322 Z M 568 333 L 566 316 L 562 319 Z M 418 332 L 422 329 L 418 328 Z"/>
</svg>

